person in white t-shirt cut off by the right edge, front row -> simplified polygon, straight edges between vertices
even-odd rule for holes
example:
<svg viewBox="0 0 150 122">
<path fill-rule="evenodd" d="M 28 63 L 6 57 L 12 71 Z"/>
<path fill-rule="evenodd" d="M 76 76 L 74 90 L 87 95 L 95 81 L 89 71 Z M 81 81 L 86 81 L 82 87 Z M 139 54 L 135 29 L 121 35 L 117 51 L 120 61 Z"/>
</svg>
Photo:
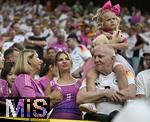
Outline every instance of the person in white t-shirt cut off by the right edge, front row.
<svg viewBox="0 0 150 122">
<path fill-rule="evenodd" d="M 143 56 L 146 70 L 139 72 L 136 77 L 136 98 L 144 98 L 150 102 L 150 52 Z"/>
</svg>

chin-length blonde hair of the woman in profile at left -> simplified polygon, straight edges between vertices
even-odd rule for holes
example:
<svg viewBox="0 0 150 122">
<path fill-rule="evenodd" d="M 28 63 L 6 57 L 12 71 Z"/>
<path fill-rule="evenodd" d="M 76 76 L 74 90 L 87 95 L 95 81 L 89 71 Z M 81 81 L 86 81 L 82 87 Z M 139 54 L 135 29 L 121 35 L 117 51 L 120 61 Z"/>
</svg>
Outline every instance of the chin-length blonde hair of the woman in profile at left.
<svg viewBox="0 0 150 122">
<path fill-rule="evenodd" d="M 20 52 L 17 57 L 14 72 L 16 75 L 19 74 L 30 74 L 32 72 L 32 67 L 29 64 L 29 59 L 33 58 L 36 54 L 35 50 L 25 49 Z"/>
</svg>

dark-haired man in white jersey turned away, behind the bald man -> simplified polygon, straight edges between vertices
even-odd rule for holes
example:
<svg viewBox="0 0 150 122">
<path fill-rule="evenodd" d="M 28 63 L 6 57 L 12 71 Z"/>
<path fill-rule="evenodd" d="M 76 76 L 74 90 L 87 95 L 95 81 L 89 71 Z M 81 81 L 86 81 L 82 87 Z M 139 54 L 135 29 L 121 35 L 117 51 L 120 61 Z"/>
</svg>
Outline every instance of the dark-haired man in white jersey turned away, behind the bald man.
<svg viewBox="0 0 150 122">
<path fill-rule="evenodd" d="M 75 34 L 70 34 L 67 37 L 68 46 L 71 48 L 71 59 L 73 61 L 73 67 L 71 72 L 73 76 L 80 77 L 83 71 L 83 65 L 92 57 L 91 52 L 82 44 L 78 42 L 78 38 Z"/>
</svg>

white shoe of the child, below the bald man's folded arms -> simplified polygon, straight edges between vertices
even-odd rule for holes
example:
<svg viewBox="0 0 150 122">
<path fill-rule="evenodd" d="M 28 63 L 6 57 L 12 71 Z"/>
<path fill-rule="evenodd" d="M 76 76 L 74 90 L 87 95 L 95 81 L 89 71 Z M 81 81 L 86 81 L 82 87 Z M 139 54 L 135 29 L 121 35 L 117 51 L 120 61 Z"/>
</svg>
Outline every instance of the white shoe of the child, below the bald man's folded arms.
<svg viewBox="0 0 150 122">
<path fill-rule="evenodd" d="M 86 103 L 86 104 L 81 104 L 79 105 L 80 111 L 84 111 L 87 113 L 96 113 L 96 106 L 94 103 Z"/>
</svg>

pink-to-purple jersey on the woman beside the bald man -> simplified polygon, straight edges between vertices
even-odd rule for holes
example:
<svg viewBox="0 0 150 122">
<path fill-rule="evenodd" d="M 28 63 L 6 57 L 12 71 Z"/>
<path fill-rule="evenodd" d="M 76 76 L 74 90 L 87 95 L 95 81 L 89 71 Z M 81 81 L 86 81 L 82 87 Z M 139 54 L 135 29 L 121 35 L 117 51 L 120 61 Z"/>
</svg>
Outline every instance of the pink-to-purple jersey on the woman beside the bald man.
<svg viewBox="0 0 150 122">
<path fill-rule="evenodd" d="M 76 95 L 81 86 L 81 81 L 77 80 L 73 84 L 59 85 L 56 81 L 50 81 L 52 90 L 59 89 L 63 95 L 63 100 L 54 106 L 50 118 L 56 119 L 82 119 L 82 112 L 76 103 Z"/>
</svg>

